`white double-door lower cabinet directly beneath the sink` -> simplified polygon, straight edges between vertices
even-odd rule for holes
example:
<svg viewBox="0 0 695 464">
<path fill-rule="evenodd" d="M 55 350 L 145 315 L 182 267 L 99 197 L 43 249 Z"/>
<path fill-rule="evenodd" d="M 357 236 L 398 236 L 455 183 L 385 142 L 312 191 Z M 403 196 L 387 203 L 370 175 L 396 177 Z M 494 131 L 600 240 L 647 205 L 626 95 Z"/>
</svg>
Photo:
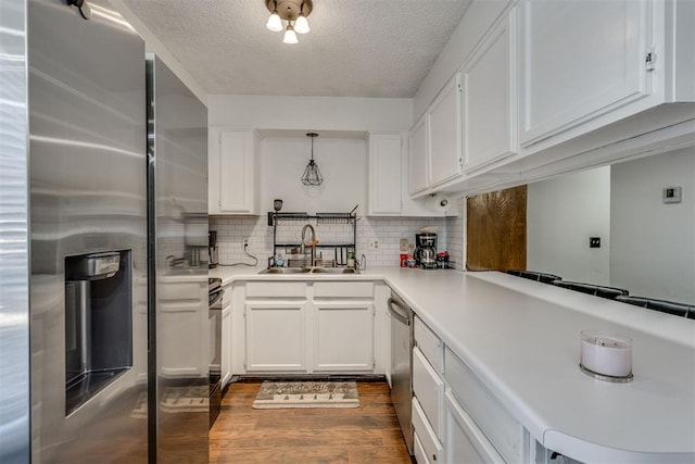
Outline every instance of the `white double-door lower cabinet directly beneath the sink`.
<svg viewBox="0 0 695 464">
<path fill-rule="evenodd" d="M 233 331 L 235 374 L 376 372 L 374 281 L 250 281 L 235 291 L 244 321 Z"/>
</svg>

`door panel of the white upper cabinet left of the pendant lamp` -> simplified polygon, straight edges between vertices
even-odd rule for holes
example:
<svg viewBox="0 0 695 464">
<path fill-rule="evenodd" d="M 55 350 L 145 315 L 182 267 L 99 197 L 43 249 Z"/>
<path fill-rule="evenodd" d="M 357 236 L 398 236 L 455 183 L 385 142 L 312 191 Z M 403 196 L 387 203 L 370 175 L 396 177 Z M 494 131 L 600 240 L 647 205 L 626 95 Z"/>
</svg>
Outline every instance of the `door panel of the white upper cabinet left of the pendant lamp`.
<svg viewBox="0 0 695 464">
<path fill-rule="evenodd" d="M 254 150 L 253 131 L 220 133 L 219 170 L 210 173 L 219 178 L 219 214 L 257 214 Z"/>
</svg>

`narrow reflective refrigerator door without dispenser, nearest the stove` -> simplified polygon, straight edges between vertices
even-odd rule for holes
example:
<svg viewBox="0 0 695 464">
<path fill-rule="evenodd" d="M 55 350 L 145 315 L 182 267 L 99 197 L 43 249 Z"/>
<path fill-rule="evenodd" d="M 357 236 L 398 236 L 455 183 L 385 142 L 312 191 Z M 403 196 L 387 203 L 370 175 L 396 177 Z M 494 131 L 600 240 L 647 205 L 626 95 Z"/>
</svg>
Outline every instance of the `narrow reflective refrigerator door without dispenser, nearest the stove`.
<svg viewBox="0 0 695 464">
<path fill-rule="evenodd" d="M 150 434 L 157 461 L 207 463 L 207 110 L 157 57 L 148 54 L 146 65 L 149 314 L 156 340 Z M 176 406 L 186 402 L 201 406 Z"/>
</svg>

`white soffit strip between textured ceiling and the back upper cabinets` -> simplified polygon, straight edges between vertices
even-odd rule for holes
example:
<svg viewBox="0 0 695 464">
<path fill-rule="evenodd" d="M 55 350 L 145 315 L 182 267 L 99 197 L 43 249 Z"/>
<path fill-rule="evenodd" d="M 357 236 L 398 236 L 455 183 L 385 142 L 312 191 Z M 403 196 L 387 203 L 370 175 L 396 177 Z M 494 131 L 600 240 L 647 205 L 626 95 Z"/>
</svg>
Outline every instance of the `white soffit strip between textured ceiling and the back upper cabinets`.
<svg viewBox="0 0 695 464">
<path fill-rule="evenodd" d="M 413 100 L 210 95 L 210 125 L 237 129 L 409 130 Z"/>
</svg>

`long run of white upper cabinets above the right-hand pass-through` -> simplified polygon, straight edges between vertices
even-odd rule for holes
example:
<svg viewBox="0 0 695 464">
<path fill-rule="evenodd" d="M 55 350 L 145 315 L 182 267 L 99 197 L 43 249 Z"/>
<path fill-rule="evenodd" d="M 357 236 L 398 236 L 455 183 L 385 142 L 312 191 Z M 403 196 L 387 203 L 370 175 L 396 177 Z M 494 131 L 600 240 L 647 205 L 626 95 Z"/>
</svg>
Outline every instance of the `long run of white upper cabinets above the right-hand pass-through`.
<svg viewBox="0 0 695 464">
<path fill-rule="evenodd" d="M 450 47 L 460 63 L 441 55 L 460 95 L 450 78 L 427 136 L 414 127 L 427 149 L 413 149 L 410 195 L 514 187 L 695 140 L 695 1 L 510 0 L 465 21 L 489 26 Z"/>
</svg>

